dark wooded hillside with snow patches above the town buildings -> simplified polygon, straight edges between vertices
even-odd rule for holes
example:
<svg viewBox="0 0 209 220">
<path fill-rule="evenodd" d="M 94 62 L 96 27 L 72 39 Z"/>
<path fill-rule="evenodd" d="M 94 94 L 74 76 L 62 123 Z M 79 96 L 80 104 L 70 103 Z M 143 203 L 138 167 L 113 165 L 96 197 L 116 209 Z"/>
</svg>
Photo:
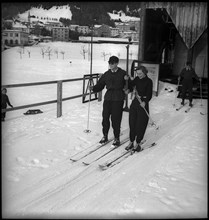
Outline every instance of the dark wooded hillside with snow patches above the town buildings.
<svg viewBox="0 0 209 220">
<path fill-rule="evenodd" d="M 4 3 L 2 4 L 2 17 L 5 19 L 17 18 L 28 19 L 28 12 L 30 11 L 31 19 L 41 20 L 42 22 L 48 19 L 60 18 L 70 19 L 72 24 L 89 25 L 92 22 L 96 24 L 108 24 L 114 26 L 113 20 L 125 21 L 130 20 L 131 17 L 137 16 L 139 18 L 140 4 L 123 2 L 118 3 L 99 3 L 99 2 L 77 2 L 77 3 Z M 121 17 L 118 12 L 124 11 L 125 14 Z M 111 17 L 114 11 L 114 17 Z M 118 16 L 116 16 L 118 14 Z M 37 18 L 38 17 L 38 18 Z M 47 19 L 48 18 L 48 19 Z M 135 18 L 133 18 L 135 19 Z"/>
</svg>

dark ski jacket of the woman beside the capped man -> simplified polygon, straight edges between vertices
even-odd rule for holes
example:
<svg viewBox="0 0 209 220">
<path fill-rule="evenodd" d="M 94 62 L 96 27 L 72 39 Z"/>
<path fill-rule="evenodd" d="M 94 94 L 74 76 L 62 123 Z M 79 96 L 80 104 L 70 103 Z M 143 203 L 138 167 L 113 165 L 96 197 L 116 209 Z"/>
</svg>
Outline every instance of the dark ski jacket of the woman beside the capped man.
<svg viewBox="0 0 209 220">
<path fill-rule="evenodd" d="M 132 92 L 135 87 L 138 95 L 141 96 L 141 100 L 144 101 L 146 105 L 148 105 L 152 98 L 152 80 L 147 76 L 142 79 L 137 76 L 134 80 L 129 80 L 128 82 L 129 90 Z"/>
</svg>

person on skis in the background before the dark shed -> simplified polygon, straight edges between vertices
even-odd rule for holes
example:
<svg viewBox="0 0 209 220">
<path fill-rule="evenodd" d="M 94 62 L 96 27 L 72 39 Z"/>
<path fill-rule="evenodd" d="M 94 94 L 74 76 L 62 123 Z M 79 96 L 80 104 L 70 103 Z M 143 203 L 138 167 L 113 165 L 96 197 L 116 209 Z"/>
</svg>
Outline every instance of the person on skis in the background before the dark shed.
<svg viewBox="0 0 209 220">
<path fill-rule="evenodd" d="M 195 78 L 196 80 L 200 80 L 200 81 L 201 81 L 201 78 L 199 78 L 197 76 L 197 74 L 195 73 L 195 70 L 191 66 L 191 62 L 189 62 L 189 61 L 186 62 L 186 67 L 182 69 L 182 71 L 178 77 L 178 80 L 180 81 L 181 78 L 183 78 L 181 105 L 184 105 L 184 100 L 186 98 L 186 92 L 188 91 L 188 93 L 189 93 L 189 106 L 192 107 L 193 78 Z"/>
</svg>

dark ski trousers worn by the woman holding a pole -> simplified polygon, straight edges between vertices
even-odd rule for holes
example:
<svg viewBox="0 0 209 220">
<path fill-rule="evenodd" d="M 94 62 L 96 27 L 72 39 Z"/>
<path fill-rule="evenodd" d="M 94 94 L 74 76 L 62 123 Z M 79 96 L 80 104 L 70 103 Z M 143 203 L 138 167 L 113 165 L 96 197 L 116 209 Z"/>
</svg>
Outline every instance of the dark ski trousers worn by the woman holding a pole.
<svg viewBox="0 0 209 220">
<path fill-rule="evenodd" d="M 145 109 L 149 113 L 148 105 L 145 106 Z M 141 142 L 141 140 L 144 138 L 148 121 L 149 117 L 144 108 L 140 106 L 139 102 L 136 99 L 134 99 L 131 103 L 129 111 L 129 138 L 131 142 L 134 142 L 135 140 L 137 143 Z"/>
</svg>

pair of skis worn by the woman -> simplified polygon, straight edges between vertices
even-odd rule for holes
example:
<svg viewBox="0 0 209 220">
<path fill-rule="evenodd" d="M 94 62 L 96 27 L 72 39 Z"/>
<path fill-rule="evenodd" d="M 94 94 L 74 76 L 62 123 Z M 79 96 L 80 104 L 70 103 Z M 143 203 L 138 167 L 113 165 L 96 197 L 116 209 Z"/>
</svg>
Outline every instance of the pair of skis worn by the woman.
<svg viewBox="0 0 209 220">
<path fill-rule="evenodd" d="M 155 142 L 152 143 L 152 144 L 149 144 L 149 145 L 147 145 L 146 147 L 142 148 L 141 151 L 143 151 L 143 150 L 145 150 L 145 149 L 148 149 L 148 148 L 150 148 L 150 147 L 153 147 L 153 146 L 155 146 L 155 145 L 156 145 Z M 142 144 L 142 146 L 143 146 L 143 144 Z M 140 152 L 141 152 L 141 151 L 140 151 Z M 103 164 L 99 164 L 99 168 L 100 168 L 101 170 L 106 170 L 106 169 L 108 169 L 108 168 L 110 168 L 110 167 L 115 166 L 116 164 L 121 163 L 121 162 L 124 161 L 126 158 L 128 158 L 128 157 L 131 156 L 131 155 L 133 155 L 134 153 L 136 153 L 136 151 L 133 151 L 133 150 L 125 151 L 125 152 L 123 152 L 121 155 L 119 155 L 119 156 L 117 156 L 117 157 L 115 157 L 115 158 L 113 158 L 113 159 L 111 159 L 111 160 L 109 160 L 109 161 L 107 161 L 107 162 L 105 162 L 105 163 L 103 163 Z"/>
</svg>

